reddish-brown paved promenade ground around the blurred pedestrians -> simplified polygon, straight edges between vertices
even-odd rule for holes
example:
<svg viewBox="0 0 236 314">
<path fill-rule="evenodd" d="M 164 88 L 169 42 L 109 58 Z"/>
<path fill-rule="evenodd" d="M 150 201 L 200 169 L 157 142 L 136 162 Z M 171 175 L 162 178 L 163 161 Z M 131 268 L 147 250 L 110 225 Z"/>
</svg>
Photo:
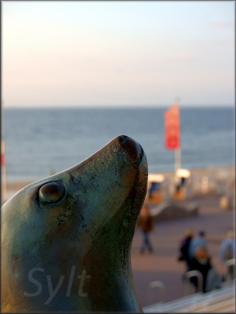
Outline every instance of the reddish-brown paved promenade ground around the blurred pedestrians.
<svg viewBox="0 0 236 314">
<path fill-rule="evenodd" d="M 219 207 L 219 197 L 198 196 L 193 201 L 200 205 L 199 215 L 170 221 L 158 222 L 150 235 L 153 253 L 140 254 L 142 232 L 136 229 L 132 249 L 131 264 L 137 294 L 141 306 L 147 306 L 147 287 L 155 280 L 160 280 L 166 288 L 166 301 L 176 300 L 184 296 L 182 276 L 185 263 L 179 262 L 179 245 L 187 228 L 196 232 L 205 230 L 212 265 L 219 275 L 223 275 L 224 266 L 218 258 L 221 241 L 229 229 L 234 227 L 233 210 L 223 211 Z M 158 288 L 154 291 L 154 302 L 159 301 Z M 194 293 L 192 287 L 191 293 Z"/>
</svg>

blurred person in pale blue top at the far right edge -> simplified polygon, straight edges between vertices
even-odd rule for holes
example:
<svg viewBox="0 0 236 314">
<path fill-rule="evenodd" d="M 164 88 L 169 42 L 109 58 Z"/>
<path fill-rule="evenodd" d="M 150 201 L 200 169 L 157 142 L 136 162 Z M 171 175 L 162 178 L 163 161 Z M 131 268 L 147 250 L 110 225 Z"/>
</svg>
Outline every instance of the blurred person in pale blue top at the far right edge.
<svg viewBox="0 0 236 314">
<path fill-rule="evenodd" d="M 221 242 L 219 257 L 223 263 L 227 262 L 232 258 L 235 258 L 235 240 L 234 232 L 232 230 L 228 231 L 226 239 Z M 234 265 L 229 266 L 229 276 L 230 279 L 233 279 L 235 277 Z M 224 278 L 224 280 L 225 279 L 226 278 Z"/>
</svg>

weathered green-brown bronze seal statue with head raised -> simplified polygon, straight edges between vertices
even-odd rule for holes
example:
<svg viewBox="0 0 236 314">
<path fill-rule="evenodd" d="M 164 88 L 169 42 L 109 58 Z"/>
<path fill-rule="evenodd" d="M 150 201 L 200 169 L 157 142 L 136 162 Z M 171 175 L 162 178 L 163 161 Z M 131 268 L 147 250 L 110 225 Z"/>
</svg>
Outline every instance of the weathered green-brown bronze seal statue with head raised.
<svg viewBox="0 0 236 314">
<path fill-rule="evenodd" d="M 17 192 L 1 209 L 1 312 L 142 312 L 130 251 L 146 192 L 124 135 Z"/>
</svg>

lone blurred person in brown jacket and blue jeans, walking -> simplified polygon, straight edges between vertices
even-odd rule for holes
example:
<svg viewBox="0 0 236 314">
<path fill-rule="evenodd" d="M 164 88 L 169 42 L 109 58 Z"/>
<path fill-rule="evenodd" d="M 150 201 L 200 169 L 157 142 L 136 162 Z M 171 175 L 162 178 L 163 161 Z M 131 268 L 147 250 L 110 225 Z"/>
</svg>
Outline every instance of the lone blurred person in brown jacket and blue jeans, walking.
<svg viewBox="0 0 236 314">
<path fill-rule="evenodd" d="M 151 253 L 153 251 L 150 239 L 149 239 L 149 232 L 153 230 L 153 218 L 148 213 L 146 205 L 143 205 L 141 213 L 140 213 L 140 220 L 143 232 L 143 245 L 141 247 L 140 252 L 143 253 L 145 248 Z"/>
</svg>

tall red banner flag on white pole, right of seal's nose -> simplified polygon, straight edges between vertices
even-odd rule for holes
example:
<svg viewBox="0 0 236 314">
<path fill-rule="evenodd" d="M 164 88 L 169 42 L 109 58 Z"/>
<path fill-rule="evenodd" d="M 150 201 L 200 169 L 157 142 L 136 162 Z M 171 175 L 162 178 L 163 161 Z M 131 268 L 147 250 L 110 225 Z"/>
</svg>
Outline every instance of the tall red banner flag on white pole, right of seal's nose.
<svg viewBox="0 0 236 314">
<path fill-rule="evenodd" d="M 180 113 L 179 105 L 174 104 L 164 112 L 165 117 L 165 146 L 167 149 L 180 147 Z"/>
</svg>

